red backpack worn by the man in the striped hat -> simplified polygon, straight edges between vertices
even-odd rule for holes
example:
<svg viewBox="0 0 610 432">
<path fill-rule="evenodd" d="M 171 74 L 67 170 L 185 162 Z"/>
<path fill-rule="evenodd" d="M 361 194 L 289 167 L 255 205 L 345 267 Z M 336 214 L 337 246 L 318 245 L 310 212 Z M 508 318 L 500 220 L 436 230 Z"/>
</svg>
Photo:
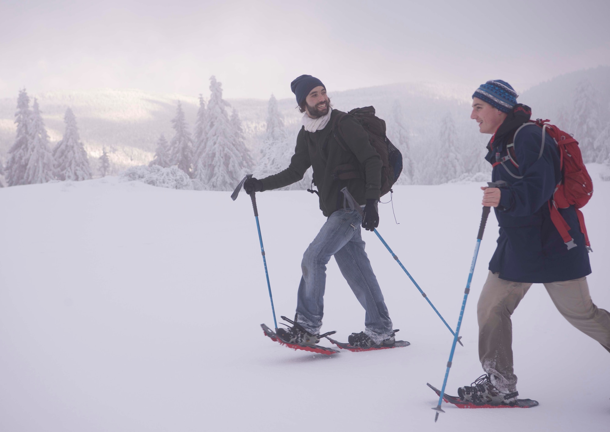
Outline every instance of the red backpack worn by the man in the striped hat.
<svg viewBox="0 0 610 432">
<path fill-rule="evenodd" d="M 593 182 L 589 172 L 587 172 L 586 166 L 584 166 L 583 156 L 581 155 L 580 148 L 578 147 L 578 141 L 576 141 L 569 133 L 562 131 L 557 126 L 548 124 L 547 122 L 548 119 L 537 119 L 536 121 L 530 120 L 523 124 L 523 126 L 527 126 L 528 124 L 536 124 L 537 126 L 542 127 L 542 147 L 540 147 L 540 154 L 538 158 L 542 157 L 542 150 L 544 150 L 545 133 L 548 133 L 548 135 L 553 138 L 559 150 L 559 167 L 561 169 L 562 179 L 556 186 L 553 197 L 548 200 L 548 209 L 551 212 L 551 221 L 553 221 L 553 225 L 555 225 L 559 231 L 559 234 L 568 247 L 568 250 L 572 249 L 572 247 L 578 246 L 574 243 L 574 239 L 568 233 L 570 230 L 570 225 L 565 222 L 565 219 L 561 216 L 561 213 L 559 213 L 558 210 L 559 208 L 568 208 L 570 205 L 573 205 L 576 208 L 578 222 L 580 223 L 580 230 L 584 234 L 584 241 L 587 246 L 587 250 L 592 251 L 591 244 L 589 243 L 589 236 L 587 235 L 587 228 L 584 225 L 583 212 L 579 209 L 584 207 L 591 199 L 591 196 L 593 195 Z M 515 136 L 523 126 L 517 129 Z M 514 146 L 514 143 L 509 144 L 507 147 L 511 146 Z M 509 149 L 508 152 L 509 158 L 515 166 L 519 166 L 517 165 L 517 161 L 514 160 L 514 154 L 511 155 L 510 150 L 511 149 Z M 512 150 L 514 151 L 514 149 Z"/>
</svg>

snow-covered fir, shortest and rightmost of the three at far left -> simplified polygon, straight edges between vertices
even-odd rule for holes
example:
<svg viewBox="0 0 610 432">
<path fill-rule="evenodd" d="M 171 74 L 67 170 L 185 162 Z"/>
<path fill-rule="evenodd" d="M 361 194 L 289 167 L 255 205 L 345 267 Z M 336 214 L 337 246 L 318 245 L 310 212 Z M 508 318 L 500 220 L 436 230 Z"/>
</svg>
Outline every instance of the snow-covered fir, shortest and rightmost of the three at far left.
<svg viewBox="0 0 610 432">
<path fill-rule="evenodd" d="M 53 149 L 55 159 L 55 175 L 59 180 L 91 179 L 91 168 L 85 147 L 81 143 L 76 117 L 70 108 L 63 117 L 66 130 L 63 138 Z"/>
</svg>

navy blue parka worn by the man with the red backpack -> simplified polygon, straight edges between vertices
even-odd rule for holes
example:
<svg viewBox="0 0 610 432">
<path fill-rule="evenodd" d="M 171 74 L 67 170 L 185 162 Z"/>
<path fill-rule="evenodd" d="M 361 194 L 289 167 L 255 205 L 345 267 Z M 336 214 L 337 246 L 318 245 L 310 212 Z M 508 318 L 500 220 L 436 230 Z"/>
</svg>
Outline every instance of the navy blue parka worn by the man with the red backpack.
<svg viewBox="0 0 610 432">
<path fill-rule="evenodd" d="M 559 150 L 553 138 L 545 134 L 542 155 L 542 128 L 531 124 L 519 129 L 531 116 L 525 105 L 515 105 L 498 131 L 492 136 L 486 159 L 495 166 L 492 181 L 504 180 L 500 205 L 495 208 L 500 226 L 498 247 L 489 262 L 489 270 L 513 282 L 545 283 L 581 278 L 590 274 L 589 255 L 573 206 L 559 212 L 570 225 L 569 233 L 576 247 L 568 250 L 553 225 L 548 200 L 561 180 Z M 497 163 L 508 155 L 514 140 L 518 167 L 510 160 Z"/>
</svg>

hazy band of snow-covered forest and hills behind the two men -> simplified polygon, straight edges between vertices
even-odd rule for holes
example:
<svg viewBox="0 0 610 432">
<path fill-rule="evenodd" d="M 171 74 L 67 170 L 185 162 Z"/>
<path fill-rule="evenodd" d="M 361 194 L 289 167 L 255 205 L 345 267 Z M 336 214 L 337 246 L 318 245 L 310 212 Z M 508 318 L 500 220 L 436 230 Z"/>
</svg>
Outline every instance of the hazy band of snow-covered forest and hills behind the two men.
<svg viewBox="0 0 610 432">
<path fill-rule="evenodd" d="M 601 66 L 567 74 L 524 91 L 518 101 L 533 108 L 534 118 L 549 118 L 573 133 L 587 163 L 610 164 L 609 75 L 610 68 Z M 339 110 L 373 105 L 386 120 L 387 136 L 404 158 L 398 184 L 434 185 L 489 175 L 483 159 L 489 136 L 478 133 L 469 118 L 471 92 L 421 83 L 329 89 L 329 96 Z M 14 115 L 9 121 L 11 103 Z M 14 100 L 0 101 L 0 185 L 84 180 L 136 166 L 140 168 L 128 177 L 151 179 L 163 173 L 165 179 L 178 171 L 151 167 L 177 166 L 190 181 L 179 174 L 171 184 L 231 190 L 247 172 L 263 177 L 289 165 L 301 127 L 295 105 L 292 99 L 278 101 L 273 95 L 268 101 L 226 101 L 222 84 L 213 76 L 209 96 L 196 98 L 154 99 L 141 92 L 116 91 L 43 94 L 30 107 L 23 89 L 16 110 Z M 52 114 L 47 118 L 46 109 Z M 62 126 L 57 124 L 60 109 Z M 85 126 L 79 127 L 81 113 Z M 45 124 L 52 124 L 50 131 Z M 163 179 L 150 181 L 167 184 Z M 309 183 L 308 172 L 287 189 L 306 189 Z"/>
</svg>

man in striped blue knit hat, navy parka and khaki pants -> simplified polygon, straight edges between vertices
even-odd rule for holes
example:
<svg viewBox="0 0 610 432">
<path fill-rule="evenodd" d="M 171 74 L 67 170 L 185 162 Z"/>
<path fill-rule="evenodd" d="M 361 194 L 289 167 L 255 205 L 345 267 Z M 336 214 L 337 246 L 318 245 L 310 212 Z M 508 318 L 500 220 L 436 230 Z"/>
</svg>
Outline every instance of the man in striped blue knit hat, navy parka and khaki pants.
<svg viewBox="0 0 610 432">
<path fill-rule="evenodd" d="M 589 295 L 589 256 L 573 206 L 560 208 L 572 241 L 564 243 L 548 204 L 562 179 L 553 138 L 528 122 L 531 109 L 517 104 L 508 82 L 490 80 L 472 95 L 472 114 L 481 133 L 492 134 L 486 159 L 492 181 L 483 205 L 493 207 L 500 225 L 498 246 L 477 305 L 479 360 L 485 372 L 458 389 L 475 405 L 517 405 L 511 315 L 533 283 L 542 283 L 559 313 L 610 351 L 610 313 Z M 578 138 L 578 137 L 576 137 Z"/>
</svg>

